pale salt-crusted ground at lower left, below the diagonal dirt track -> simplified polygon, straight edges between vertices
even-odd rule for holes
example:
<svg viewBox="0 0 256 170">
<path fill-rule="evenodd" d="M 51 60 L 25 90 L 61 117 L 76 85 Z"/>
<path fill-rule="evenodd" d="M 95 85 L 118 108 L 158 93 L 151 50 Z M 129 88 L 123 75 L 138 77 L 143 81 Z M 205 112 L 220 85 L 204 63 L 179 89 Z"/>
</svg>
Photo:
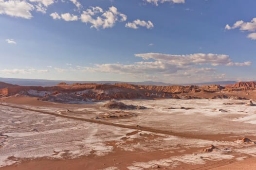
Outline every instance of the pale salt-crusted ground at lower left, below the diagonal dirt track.
<svg viewBox="0 0 256 170">
<path fill-rule="evenodd" d="M 3 106 L 0 107 L 0 116 L 5 123 L 0 126 L 0 132 L 8 136 L 4 146 L 0 148 L 0 167 L 16 162 L 9 160 L 9 156 L 62 158 L 63 154 L 67 153 L 70 158 L 76 158 L 89 155 L 91 151 L 96 156 L 103 156 L 113 149 L 112 146 L 106 145 L 107 141 L 119 140 L 128 133 L 127 129 L 123 128 L 56 118 Z M 9 118 L 12 118 L 13 122 L 20 119 L 21 123 L 6 121 Z M 45 126 L 46 124 L 48 126 Z"/>
</svg>

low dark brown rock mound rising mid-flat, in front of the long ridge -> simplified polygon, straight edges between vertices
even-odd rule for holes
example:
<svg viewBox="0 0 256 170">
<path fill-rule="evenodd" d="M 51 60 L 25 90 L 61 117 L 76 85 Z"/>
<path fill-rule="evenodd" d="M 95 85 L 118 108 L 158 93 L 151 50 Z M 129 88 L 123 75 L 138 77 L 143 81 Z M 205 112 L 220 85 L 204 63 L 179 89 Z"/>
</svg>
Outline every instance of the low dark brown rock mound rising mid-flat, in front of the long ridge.
<svg viewBox="0 0 256 170">
<path fill-rule="evenodd" d="M 126 110 L 126 109 L 147 109 L 144 106 L 135 106 L 135 105 L 127 105 L 123 102 L 115 102 L 115 101 L 111 101 L 108 102 L 106 104 L 103 105 L 103 107 L 107 108 L 107 109 L 121 109 L 121 110 Z"/>
</svg>

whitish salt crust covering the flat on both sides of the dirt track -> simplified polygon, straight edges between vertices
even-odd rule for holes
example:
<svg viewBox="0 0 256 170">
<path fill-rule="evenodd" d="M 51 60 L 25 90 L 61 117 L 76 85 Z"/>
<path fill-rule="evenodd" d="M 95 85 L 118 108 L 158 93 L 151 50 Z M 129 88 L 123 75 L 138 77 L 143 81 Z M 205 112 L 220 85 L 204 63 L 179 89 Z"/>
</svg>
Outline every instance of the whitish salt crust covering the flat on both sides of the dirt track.
<svg viewBox="0 0 256 170">
<path fill-rule="evenodd" d="M 34 92 L 33 92 L 34 93 Z M 35 92 L 36 93 L 36 92 Z M 173 132 L 192 132 L 195 134 L 234 134 L 256 135 L 256 113 L 255 107 L 245 105 L 224 105 L 225 102 L 236 102 L 235 100 L 156 100 L 156 101 L 121 101 L 125 104 L 142 105 L 150 109 L 132 110 L 130 112 L 138 114 L 138 117 L 129 119 L 108 120 L 113 123 L 126 124 L 132 126 L 145 126 L 160 130 Z M 248 102 L 248 101 L 239 101 Z M 95 118 L 95 113 L 109 112 L 102 109 L 104 103 L 91 105 L 72 106 L 68 109 L 81 111 L 81 117 L 89 119 Z M 175 109 L 168 109 L 168 108 Z M 190 109 L 180 109 L 180 107 Z M 58 106 L 32 107 L 57 113 L 66 110 Z M 220 112 L 219 109 L 227 112 Z M 66 114 L 66 113 L 65 113 Z M 70 116 L 73 112 L 68 113 Z M 76 117 L 80 115 L 75 115 Z M 247 156 L 256 156 L 255 144 L 242 144 L 230 141 L 209 141 L 202 139 L 187 139 L 185 137 L 161 135 L 139 131 L 137 134 L 126 136 L 135 130 L 119 127 L 99 125 L 64 119 L 52 115 L 40 114 L 21 109 L 0 106 L 0 132 L 7 135 L 7 139 L 0 137 L 0 167 L 10 165 L 16 160 L 8 159 L 9 156 L 17 158 L 77 158 L 83 155 L 94 154 L 103 156 L 113 152 L 113 147 L 106 143 L 115 141 L 117 147 L 125 151 L 137 151 L 141 154 L 151 151 L 177 150 L 180 155 L 160 160 L 150 160 L 148 162 L 137 162 L 128 165 L 129 170 L 142 170 L 159 166 L 177 167 L 182 163 L 205 164 L 207 161 L 219 161 L 235 158 L 242 160 Z M 104 121 L 104 120 L 102 120 Z M 147 138 L 140 134 L 155 136 Z M 126 140 L 120 140 L 127 137 Z M 128 142 L 127 142 L 128 141 Z M 136 142 L 137 141 L 137 142 Z M 184 154 L 189 148 L 209 147 L 211 144 L 220 148 L 212 153 L 192 153 Z M 225 146 L 225 148 L 223 147 Z M 231 152 L 232 151 L 232 152 Z M 169 153 L 174 153 L 169 151 Z M 65 156 L 66 155 L 66 156 Z M 68 156 L 67 156 L 68 155 Z M 109 170 L 118 170 L 117 167 L 109 167 Z M 112 168 L 112 169 L 111 169 Z M 115 169 L 114 169 L 115 168 Z"/>
</svg>

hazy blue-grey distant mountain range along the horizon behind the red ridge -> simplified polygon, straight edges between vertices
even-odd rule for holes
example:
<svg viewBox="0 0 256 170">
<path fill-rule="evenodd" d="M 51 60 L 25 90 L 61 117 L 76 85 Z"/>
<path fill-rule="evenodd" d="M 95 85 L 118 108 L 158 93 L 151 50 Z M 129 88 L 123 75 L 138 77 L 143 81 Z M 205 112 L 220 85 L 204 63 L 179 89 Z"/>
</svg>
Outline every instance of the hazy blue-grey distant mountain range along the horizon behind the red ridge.
<svg viewBox="0 0 256 170">
<path fill-rule="evenodd" d="M 74 83 L 97 83 L 97 84 L 115 84 L 115 83 L 128 83 L 133 85 L 175 85 L 163 82 L 118 82 L 118 81 L 60 81 L 60 80 L 40 80 L 40 79 L 16 79 L 16 78 L 0 78 L 0 82 L 10 83 L 14 85 L 29 85 L 29 86 L 54 86 L 59 83 L 65 82 L 67 84 Z M 233 85 L 238 83 L 236 81 L 220 81 L 220 82 L 206 82 L 206 83 L 192 83 L 182 85 Z"/>
</svg>

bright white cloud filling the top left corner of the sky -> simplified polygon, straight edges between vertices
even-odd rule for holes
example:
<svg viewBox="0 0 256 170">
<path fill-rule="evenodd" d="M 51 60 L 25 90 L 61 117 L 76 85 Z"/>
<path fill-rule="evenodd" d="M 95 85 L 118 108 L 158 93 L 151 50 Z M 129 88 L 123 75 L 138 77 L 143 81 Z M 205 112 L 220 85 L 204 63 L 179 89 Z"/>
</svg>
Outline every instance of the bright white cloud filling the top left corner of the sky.
<svg viewBox="0 0 256 170">
<path fill-rule="evenodd" d="M 0 0 L 0 14 L 31 19 L 31 11 L 34 9 L 32 4 L 23 0 Z"/>
</svg>

